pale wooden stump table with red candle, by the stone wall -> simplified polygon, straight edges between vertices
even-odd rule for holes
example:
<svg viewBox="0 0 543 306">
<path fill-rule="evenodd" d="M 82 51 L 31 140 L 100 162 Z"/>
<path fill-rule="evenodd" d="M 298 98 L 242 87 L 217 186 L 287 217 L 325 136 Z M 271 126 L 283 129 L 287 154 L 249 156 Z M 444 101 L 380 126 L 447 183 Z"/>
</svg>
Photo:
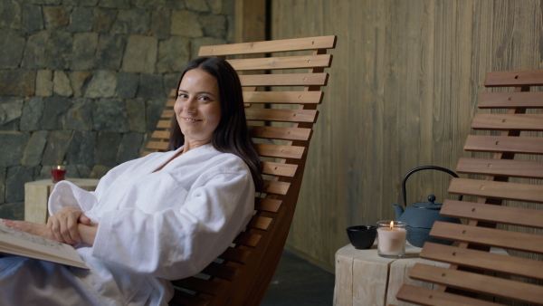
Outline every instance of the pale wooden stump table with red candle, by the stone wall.
<svg viewBox="0 0 543 306">
<path fill-rule="evenodd" d="M 71 183 L 82 189 L 93 191 L 98 186 L 99 179 L 92 178 L 69 178 Z M 24 184 L 24 220 L 33 223 L 45 224 L 49 213 L 47 201 L 51 195 L 52 188 L 56 183 L 51 179 L 28 182 Z"/>
</svg>

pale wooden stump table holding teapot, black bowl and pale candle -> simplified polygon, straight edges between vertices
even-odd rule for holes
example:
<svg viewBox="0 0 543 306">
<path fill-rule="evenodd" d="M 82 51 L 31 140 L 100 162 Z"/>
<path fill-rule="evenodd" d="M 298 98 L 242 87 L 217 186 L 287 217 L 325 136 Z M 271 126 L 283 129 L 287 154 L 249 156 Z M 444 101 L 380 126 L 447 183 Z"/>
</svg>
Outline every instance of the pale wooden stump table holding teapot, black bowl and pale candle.
<svg viewBox="0 0 543 306">
<path fill-rule="evenodd" d="M 376 245 L 369 250 L 357 250 L 348 244 L 336 253 L 336 286 L 334 305 L 412 305 L 398 301 L 395 294 L 404 283 L 433 288 L 429 282 L 414 281 L 408 274 L 414 263 L 426 263 L 448 267 L 418 257 L 421 248 L 411 244 L 405 246 L 406 257 L 389 259 L 377 254 Z"/>
</svg>

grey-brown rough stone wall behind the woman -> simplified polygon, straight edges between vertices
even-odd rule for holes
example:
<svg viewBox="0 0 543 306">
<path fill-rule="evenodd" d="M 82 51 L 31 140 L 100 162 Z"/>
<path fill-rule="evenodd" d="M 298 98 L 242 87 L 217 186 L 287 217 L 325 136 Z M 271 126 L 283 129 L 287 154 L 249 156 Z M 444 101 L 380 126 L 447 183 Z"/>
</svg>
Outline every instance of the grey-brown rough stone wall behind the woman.
<svg viewBox="0 0 543 306">
<path fill-rule="evenodd" d="M 233 0 L 2 0 L 0 218 L 24 183 L 138 158 L 200 45 L 233 42 Z"/>
</svg>

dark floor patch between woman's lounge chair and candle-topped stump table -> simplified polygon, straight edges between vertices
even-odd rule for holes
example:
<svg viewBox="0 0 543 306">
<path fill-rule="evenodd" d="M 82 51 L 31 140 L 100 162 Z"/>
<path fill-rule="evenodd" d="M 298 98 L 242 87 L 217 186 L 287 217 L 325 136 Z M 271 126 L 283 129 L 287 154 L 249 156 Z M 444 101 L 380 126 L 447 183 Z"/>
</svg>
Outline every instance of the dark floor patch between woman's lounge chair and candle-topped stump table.
<svg viewBox="0 0 543 306">
<path fill-rule="evenodd" d="M 332 305 L 334 274 L 283 251 L 261 306 Z"/>
</svg>

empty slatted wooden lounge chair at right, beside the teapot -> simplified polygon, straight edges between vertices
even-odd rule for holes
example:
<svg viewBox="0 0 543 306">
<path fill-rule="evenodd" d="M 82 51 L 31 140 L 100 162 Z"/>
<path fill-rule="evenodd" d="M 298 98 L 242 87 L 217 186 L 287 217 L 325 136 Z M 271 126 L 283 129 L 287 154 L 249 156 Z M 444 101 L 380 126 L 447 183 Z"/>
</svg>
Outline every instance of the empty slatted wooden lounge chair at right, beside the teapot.
<svg viewBox="0 0 543 306">
<path fill-rule="evenodd" d="M 473 202 L 447 200 L 441 214 L 465 218 L 468 225 L 436 223 L 431 235 L 457 246 L 424 244 L 420 256 L 450 268 L 417 264 L 413 279 L 439 284 L 437 290 L 404 285 L 396 297 L 424 305 L 543 304 L 543 71 L 489 72 L 486 87 L 513 92 L 481 94 L 465 149 L 481 154 L 461 158 L 449 192 L 474 196 Z M 480 153 L 477 153 L 478 155 Z M 492 157 L 493 155 L 493 157 Z M 486 179 L 481 179 L 486 176 Z M 512 202 L 515 201 L 515 202 Z M 509 255 L 489 253 L 491 246 Z"/>
</svg>

